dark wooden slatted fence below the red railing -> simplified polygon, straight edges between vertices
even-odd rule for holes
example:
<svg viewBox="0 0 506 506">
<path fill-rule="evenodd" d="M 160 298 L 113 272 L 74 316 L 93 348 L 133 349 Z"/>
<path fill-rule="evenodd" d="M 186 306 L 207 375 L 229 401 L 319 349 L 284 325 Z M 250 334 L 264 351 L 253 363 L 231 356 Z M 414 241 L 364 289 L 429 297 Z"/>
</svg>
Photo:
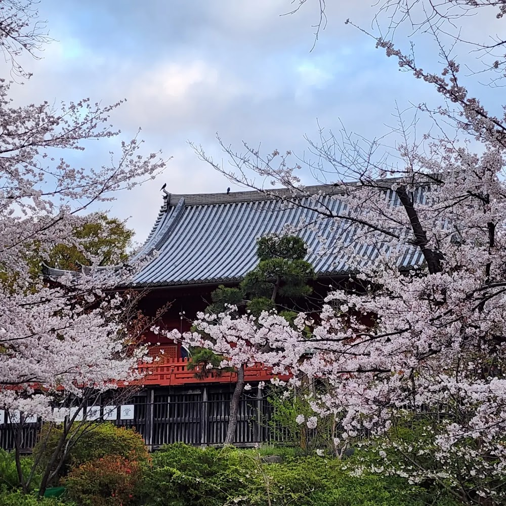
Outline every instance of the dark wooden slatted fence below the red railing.
<svg viewBox="0 0 506 506">
<path fill-rule="evenodd" d="M 155 394 L 151 391 L 147 396 L 137 396 L 124 402 L 133 407 L 133 414 L 130 414 L 133 418 L 122 418 L 118 406 L 116 419 L 109 421 L 117 426 L 135 428 L 152 449 L 175 442 L 220 445 L 227 432 L 230 398 L 231 392 L 208 392 L 205 388 L 181 394 Z M 101 406 L 97 421 L 103 421 L 104 412 L 104 406 Z M 285 440 L 286 431 L 272 426 L 272 414 L 273 408 L 265 396 L 244 395 L 239 405 L 235 444 L 253 446 L 255 443 Z M 40 421 L 22 426 L 7 422 L 5 416 L 4 423 L 0 424 L 0 446 L 14 448 L 17 430 L 20 431 L 23 451 L 29 452 L 35 444 Z"/>
</svg>

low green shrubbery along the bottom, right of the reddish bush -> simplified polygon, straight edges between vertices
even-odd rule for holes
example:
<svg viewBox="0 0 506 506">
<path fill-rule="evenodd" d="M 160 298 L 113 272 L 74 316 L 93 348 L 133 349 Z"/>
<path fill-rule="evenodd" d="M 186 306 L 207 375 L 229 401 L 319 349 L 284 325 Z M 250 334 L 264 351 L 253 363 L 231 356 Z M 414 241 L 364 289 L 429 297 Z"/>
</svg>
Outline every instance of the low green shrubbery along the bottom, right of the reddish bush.
<svg viewBox="0 0 506 506">
<path fill-rule="evenodd" d="M 268 452 L 167 445 L 146 471 L 146 506 L 458 506 L 401 478 L 351 476 L 347 461 L 285 449 L 282 463 L 263 463 Z"/>
</svg>

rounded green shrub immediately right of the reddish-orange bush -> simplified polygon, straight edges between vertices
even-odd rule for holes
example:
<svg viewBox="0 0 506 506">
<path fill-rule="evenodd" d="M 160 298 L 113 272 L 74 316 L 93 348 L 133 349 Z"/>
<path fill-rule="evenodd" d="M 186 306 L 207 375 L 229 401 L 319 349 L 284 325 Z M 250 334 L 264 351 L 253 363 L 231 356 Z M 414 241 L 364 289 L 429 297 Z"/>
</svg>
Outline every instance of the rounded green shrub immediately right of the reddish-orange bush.
<svg viewBox="0 0 506 506">
<path fill-rule="evenodd" d="M 153 453 L 143 495 L 148 504 L 223 506 L 250 495 L 257 482 L 254 460 L 233 448 L 176 443 Z"/>
</svg>

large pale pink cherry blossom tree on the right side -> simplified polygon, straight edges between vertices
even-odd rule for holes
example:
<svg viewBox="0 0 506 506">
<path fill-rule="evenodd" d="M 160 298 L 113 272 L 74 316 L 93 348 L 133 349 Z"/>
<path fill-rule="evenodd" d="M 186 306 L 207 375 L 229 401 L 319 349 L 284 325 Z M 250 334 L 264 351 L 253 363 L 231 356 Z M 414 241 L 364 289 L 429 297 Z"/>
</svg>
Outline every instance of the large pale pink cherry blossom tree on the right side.
<svg viewBox="0 0 506 506">
<path fill-rule="evenodd" d="M 469 13 L 500 18 L 504 7 L 471 0 L 383 6 L 396 26 L 423 23 L 439 48 L 442 64 L 428 71 L 409 48 L 394 45 L 395 30 L 368 34 L 442 98 L 436 108 L 418 107 L 433 121 L 419 140 L 416 121 L 398 111 L 392 148 L 322 129 L 318 141 L 308 139 L 316 162 L 291 161 L 290 152 L 262 155 L 247 144 L 235 152 L 222 143 L 230 170 L 196 147 L 232 181 L 316 210 L 321 220 L 314 226 L 336 231 L 320 250 L 346 254 L 348 289 L 330 292 L 318 323 L 307 322 L 315 353 L 303 361 L 292 357 L 292 370 L 331 385 L 313 403 L 315 413 L 338 418 L 341 439 L 369 435 L 379 457 L 367 464 L 373 471 L 436 483 L 469 504 L 503 504 L 506 497 L 506 116 L 495 104 L 484 105 L 488 94 L 480 100 L 468 92 L 464 82 L 473 75 L 462 77 L 453 54 L 470 40 L 459 24 Z M 480 53 L 499 78 L 503 59 L 489 49 L 503 48 L 498 37 Z M 305 164 L 328 192 L 313 194 L 301 184 Z M 251 173 L 290 191 L 258 188 Z M 372 325 L 361 322 L 364 314 L 375 315 Z M 417 437 L 400 437 L 399 428 L 416 430 Z"/>
</svg>

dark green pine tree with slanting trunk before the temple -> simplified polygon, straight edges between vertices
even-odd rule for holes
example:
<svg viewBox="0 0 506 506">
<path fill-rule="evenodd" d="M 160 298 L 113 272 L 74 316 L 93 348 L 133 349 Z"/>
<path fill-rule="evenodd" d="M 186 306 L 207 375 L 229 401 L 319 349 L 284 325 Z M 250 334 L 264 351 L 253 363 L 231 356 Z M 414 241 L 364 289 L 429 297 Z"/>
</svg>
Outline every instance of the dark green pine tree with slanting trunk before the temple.
<svg viewBox="0 0 506 506">
<path fill-rule="evenodd" d="M 214 319 L 215 322 L 222 322 L 223 319 L 230 321 L 246 313 L 250 316 L 246 336 L 231 332 L 230 335 L 220 334 L 217 337 L 214 332 L 207 332 L 207 325 L 202 327 L 199 322 L 195 324 L 196 332 L 183 336 L 192 351 L 189 367 L 198 365 L 205 371 L 232 365 L 237 372 L 225 444 L 234 442 L 239 401 L 245 386 L 245 366 L 248 363 L 262 363 L 263 354 L 272 352 L 268 340 L 249 339 L 247 335 L 254 331 L 255 321 L 262 315 L 276 311 L 288 321 L 297 315 L 290 308 L 290 299 L 306 297 L 312 291 L 307 281 L 314 277 L 314 270 L 304 260 L 306 255 L 306 246 L 299 237 L 260 238 L 257 242 L 257 267 L 246 274 L 238 288 L 219 286 L 211 294 L 212 304 L 205 310 L 212 317 L 211 321 Z M 236 360 L 231 361 L 231 355 Z"/>
</svg>

